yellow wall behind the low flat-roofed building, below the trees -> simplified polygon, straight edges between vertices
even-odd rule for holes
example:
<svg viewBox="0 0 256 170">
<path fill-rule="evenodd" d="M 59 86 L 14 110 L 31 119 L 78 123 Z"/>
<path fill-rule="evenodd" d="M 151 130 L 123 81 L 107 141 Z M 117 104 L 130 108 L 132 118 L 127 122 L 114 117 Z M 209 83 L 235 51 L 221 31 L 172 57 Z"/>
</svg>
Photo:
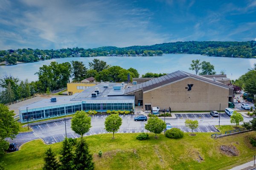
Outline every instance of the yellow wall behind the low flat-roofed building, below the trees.
<svg viewBox="0 0 256 170">
<path fill-rule="evenodd" d="M 72 95 L 78 92 L 82 92 L 84 89 L 95 85 L 95 83 L 67 83 L 67 94 Z"/>
</svg>

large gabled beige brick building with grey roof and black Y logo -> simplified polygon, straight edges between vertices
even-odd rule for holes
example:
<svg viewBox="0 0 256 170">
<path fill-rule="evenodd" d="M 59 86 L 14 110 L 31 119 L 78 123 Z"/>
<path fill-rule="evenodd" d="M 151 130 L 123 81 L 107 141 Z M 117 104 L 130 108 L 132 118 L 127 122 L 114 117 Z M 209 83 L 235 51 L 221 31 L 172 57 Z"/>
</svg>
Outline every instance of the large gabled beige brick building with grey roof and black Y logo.
<svg viewBox="0 0 256 170">
<path fill-rule="evenodd" d="M 135 95 L 135 104 L 143 110 L 152 107 L 173 111 L 221 110 L 233 101 L 233 88 L 218 81 L 177 71 L 125 89 Z"/>
</svg>

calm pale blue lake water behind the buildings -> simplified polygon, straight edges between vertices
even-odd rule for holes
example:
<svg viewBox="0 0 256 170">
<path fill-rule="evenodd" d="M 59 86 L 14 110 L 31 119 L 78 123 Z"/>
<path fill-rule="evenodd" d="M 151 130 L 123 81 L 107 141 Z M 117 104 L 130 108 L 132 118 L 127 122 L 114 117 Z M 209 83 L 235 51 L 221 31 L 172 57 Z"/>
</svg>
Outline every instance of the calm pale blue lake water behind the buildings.
<svg viewBox="0 0 256 170">
<path fill-rule="evenodd" d="M 225 70 L 227 76 L 231 79 L 237 79 L 253 67 L 256 63 L 256 58 L 222 58 L 222 57 L 207 57 L 202 55 L 186 55 L 186 54 L 168 54 L 157 57 L 96 57 L 99 60 L 106 61 L 111 66 L 121 66 L 124 69 L 130 67 L 137 69 L 140 75 L 146 72 L 156 73 L 171 73 L 177 70 L 185 72 L 191 72 L 195 74 L 195 71 L 189 70 L 192 60 L 200 59 L 201 61 L 209 61 L 215 66 L 217 74 L 221 70 Z M 89 67 L 88 62 L 91 62 L 92 58 L 58 58 L 46 61 L 39 61 L 35 63 L 22 63 L 12 66 L 0 66 L 0 77 L 4 74 L 13 75 L 20 80 L 35 81 L 38 79 L 37 75 L 34 75 L 38 71 L 39 67 L 44 64 L 49 65 L 52 61 L 58 63 L 70 62 L 70 61 L 83 61 L 83 63 Z"/>
</svg>

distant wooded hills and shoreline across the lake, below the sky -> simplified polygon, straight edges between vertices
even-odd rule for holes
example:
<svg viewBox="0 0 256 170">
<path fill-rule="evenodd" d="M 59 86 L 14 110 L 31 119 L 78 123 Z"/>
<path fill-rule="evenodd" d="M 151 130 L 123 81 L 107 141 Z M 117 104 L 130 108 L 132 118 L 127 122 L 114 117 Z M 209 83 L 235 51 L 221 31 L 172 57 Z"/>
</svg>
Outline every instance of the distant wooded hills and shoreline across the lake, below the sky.
<svg viewBox="0 0 256 170">
<path fill-rule="evenodd" d="M 67 48 L 67 49 L 9 49 L 0 50 L 0 61 L 9 64 L 20 62 L 35 62 L 52 58 L 67 57 L 96 57 L 96 56 L 154 56 L 185 53 L 200 54 L 217 57 L 252 58 L 256 57 L 256 41 L 186 41 L 162 43 L 151 46 L 129 46 L 118 48 L 103 46 L 94 49 Z"/>
</svg>

